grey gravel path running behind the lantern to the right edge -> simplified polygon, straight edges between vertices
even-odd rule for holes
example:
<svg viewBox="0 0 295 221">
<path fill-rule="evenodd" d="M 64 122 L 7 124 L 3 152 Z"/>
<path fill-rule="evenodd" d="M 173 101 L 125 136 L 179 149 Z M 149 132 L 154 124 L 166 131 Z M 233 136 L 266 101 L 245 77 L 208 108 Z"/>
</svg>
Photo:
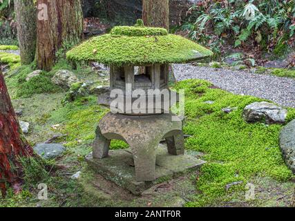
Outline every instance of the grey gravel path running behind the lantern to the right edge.
<svg viewBox="0 0 295 221">
<path fill-rule="evenodd" d="M 295 79 L 190 64 L 175 64 L 173 71 L 178 81 L 205 79 L 231 93 L 252 95 L 295 108 Z"/>
</svg>

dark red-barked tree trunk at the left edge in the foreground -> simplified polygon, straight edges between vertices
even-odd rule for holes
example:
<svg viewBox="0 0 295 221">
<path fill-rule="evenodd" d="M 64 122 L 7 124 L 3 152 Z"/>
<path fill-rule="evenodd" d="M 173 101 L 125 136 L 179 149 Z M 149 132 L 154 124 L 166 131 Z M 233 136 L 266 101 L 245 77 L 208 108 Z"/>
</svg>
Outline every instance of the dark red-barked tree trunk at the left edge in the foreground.
<svg viewBox="0 0 295 221">
<path fill-rule="evenodd" d="M 12 107 L 4 77 L 0 70 L 0 189 L 6 194 L 6 185 L 15 190 L 21 183 L 19 157 L 33 155 L 32 148 L 23 137 Z"/>
</svg>

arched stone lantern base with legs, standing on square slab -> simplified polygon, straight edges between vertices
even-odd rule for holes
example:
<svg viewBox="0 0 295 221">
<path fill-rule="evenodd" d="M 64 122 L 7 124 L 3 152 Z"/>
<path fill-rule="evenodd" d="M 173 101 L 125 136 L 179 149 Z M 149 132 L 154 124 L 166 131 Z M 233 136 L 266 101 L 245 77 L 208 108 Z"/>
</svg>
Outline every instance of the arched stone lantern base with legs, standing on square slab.
<svg viewBox="0 0 295 221">
<path fill-rule="evenodd" d="M 108 113 L 97 126 L 93 158 L 108 157 L 111 140 L 123 140 L 130 146 L 137 182 L 154 181 L 156 148 L 166 140 L 169 155 L 184 154 L 182 122 L 173 114 L 129 116 Z M 171 157 L 171 160 L 173 157 Z"/>
</svg>

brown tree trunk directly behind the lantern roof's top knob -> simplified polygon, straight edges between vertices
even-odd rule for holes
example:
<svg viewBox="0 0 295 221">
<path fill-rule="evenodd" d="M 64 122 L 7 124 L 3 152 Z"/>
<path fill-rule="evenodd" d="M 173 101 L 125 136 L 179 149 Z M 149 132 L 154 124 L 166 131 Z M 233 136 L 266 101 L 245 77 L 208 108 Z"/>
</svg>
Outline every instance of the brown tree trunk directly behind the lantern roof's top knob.
<svg viewBox="0 0 295 221">
<path fill-rule="evenodd" d="M 169 0 L 142 0 L 144 25 L 169 30 Z"/>
</svg>

